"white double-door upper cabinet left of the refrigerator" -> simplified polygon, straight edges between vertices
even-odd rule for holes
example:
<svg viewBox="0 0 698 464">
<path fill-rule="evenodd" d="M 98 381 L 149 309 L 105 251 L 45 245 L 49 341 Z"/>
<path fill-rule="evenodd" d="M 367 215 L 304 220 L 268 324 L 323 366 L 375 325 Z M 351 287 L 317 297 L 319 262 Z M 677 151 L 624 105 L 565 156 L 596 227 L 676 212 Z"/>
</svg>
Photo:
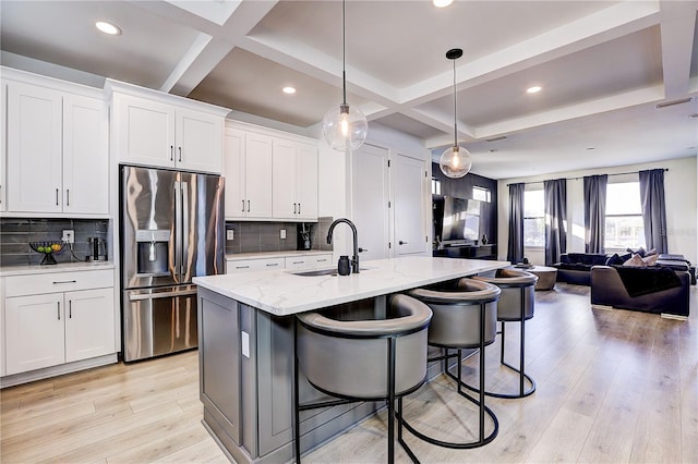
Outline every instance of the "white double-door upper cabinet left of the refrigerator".
<svg viewBox="0 0 698 464">
<path fill-rule="evenodd" d="M 108 215 L 107 117 L 98 98 L 8 82 L 5 209 Z"/>
</svg>

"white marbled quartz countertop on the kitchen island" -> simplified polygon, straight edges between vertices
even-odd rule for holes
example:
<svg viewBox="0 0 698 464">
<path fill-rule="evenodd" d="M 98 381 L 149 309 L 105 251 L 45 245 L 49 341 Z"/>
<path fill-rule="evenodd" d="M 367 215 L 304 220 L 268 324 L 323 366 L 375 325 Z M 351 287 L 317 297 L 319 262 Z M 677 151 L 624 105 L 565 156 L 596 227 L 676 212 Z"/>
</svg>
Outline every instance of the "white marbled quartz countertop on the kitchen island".
<svg viewBox="0 0 698 464">
<path fill-rule="evenodd" d="M 412 256 L 361 262 L 350 276 L 297 276 L 294 269 L 194 278 L 194 283 L 276 316 L 414 289 L 509 266 L 508 261 Z"/>
</svg>

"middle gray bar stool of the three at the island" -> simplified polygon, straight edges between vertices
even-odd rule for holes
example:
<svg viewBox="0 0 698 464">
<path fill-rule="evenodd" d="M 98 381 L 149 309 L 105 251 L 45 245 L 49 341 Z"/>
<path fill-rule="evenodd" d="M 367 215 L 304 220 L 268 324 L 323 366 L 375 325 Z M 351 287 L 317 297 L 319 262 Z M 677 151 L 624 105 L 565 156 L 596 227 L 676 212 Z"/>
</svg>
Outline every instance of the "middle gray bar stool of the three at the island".
<svg viewBox="0 0 698 464">
<path fill-rule="evenodd" d="M 417 437 L 432 444 L 454 449 L 470 449 L 488 444 L 497 436 L 500 425 L 496 415 L 484 403 L 485 358 L 484 347 L 494 342 L 497 328 L 497 300 L 502 291 L 486 282 L 461 279 L 448 284 L 438 284 L 426 289 L 416 289 L 409 292 L 424 302 L 434 313 L 429 326 L 429 344 L 445 349 L 445 355 L 429 358 L 430 362 L 445 359 L 445 373 L 456 380 L 458 393 L 479 406 L 479 437 L 470 442 L 449 442 L 429 437 L 404 420 L 401 401 L 398 400 L 399 419 L 405 422 L 405 428 Z M 448 369 L 448 359 L 454 357 L 449 349 L 457 350 L 458 374 L 454 376 Z M 462 350 L 480 350 L 480 395 L 479 400 L 467 394 L 461 386 Z M 490 416 L 493 430 L 485 437 L 484 415 Z"/>
</svg>

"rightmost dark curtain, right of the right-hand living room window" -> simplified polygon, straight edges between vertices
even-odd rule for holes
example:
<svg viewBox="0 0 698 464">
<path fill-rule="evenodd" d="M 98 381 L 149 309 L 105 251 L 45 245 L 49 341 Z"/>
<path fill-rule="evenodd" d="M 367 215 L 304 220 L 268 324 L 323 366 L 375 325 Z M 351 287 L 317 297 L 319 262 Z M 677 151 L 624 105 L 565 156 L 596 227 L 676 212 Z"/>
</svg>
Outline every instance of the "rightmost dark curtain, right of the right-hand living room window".
<svg viewBox="0 0 698 464">
<path fill-rule="evenodd" d="M 667 253 L 666 204 L 664 203 L 664 170 L 640 171 L 640 199 L 645 223 L 645 245 L 657 253 Z"/>
</svg>

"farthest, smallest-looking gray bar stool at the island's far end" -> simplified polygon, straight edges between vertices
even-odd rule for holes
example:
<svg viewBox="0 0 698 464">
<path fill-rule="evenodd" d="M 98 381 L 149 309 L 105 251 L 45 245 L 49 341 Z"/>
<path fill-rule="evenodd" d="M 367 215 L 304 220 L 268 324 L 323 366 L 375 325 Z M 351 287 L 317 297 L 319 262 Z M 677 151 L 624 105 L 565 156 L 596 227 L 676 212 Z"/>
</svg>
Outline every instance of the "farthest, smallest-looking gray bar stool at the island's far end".
<svg viewBox="0 0 698 464">
<path fill-rule="evenodd" d="M 502 351 L 500 353 L 500 363 L 519 375 L 518 393 L 485 392 L 485 394 L 505 399 L 528 396 L 535 391 L 535 381 L 526 374 L 525 367 L 526 321 L 533 317 L 533 308 L 535 305 L 534 288 L 535 282 L 538 282 L 538 276 L 517 269 L 497 269 L 493 278 L 476 276 L 472 279 L 481 282 L 493 283 L 502 289 L 502 296 L 500 296 L 500 305 L 497 306 L 497 320 L 502 322 Z M 518 369 L 504 362 L 505 327 L 506 322 L 514 321 L 519 321 L 521 323 Z M 528 390 L 525 390 L 525 380 L 528 380 L 531 384 L 531 388 Z M 473 387 L 466 387 L 471 390 L 476 390 Z"/>
</svg>

